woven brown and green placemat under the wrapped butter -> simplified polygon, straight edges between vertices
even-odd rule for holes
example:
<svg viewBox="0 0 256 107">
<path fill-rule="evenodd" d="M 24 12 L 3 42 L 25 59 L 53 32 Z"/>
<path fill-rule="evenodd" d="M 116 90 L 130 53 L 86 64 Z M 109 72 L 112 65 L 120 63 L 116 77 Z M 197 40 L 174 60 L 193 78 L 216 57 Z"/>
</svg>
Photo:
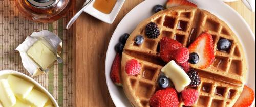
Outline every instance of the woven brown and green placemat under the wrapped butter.
<svg viewBox="0 0 256 107">
<path fill-rule="evenodd" d="M 73 106 L 73 31 L 72 28 L 65 29 L 73 15 L 72 10 L 53 23 L 36 23 L 19 13 L 14 1 L 0 1 L 0 70 L 10 69 L 29 75 L 14 49 L 34 31 L 49 30 L 63 40 L 64 62 L 56 62 L 47 74 L 33 79 L 53 95 L 59 106 Z"/>
</svg>

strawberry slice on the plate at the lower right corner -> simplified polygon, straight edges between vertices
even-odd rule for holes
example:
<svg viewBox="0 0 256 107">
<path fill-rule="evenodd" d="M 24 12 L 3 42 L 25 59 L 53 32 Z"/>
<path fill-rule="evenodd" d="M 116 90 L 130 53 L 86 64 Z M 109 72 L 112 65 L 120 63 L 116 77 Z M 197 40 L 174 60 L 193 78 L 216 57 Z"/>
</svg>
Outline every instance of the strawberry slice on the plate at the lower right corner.
<svg viewBox="0 0 256 107">
<path fill-rule="evenodd" d="M 244 89 L 238 98 L 237 102 L 234 103 L 233 107 L 248 107 L 254 100 L 254 92 L 251 88 L 244 85 Z"/>
</svg>

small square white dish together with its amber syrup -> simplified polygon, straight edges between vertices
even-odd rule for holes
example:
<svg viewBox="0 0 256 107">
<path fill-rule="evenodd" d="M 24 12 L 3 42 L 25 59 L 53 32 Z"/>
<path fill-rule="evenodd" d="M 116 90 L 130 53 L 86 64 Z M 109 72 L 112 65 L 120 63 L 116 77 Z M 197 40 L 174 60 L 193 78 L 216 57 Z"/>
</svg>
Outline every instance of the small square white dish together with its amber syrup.
<svg viewBox="0 0 256 107">
<path fill-rule="evenodd" d="M 112 24 L 125 0 L 93 0 L 84 12 Z"/>
</svg>

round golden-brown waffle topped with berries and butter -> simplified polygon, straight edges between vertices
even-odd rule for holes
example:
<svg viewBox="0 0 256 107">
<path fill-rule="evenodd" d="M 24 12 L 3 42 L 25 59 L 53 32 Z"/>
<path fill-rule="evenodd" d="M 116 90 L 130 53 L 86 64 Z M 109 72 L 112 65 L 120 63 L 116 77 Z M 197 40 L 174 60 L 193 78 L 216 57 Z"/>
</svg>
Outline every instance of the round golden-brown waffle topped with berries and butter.
<svg viewBox="0 0 256 107">
<path fill-rule="evenodd" d="M 155 22 L 160 29 L 156 39 L 145 35 L 145 26 Z M 148 101 L 159 90 L 156 83 L 161 68 L 166 64 L 159 56 L 159 41 L 162 37 L 176 39 L 183 46 L 188 46 L 203 31 L 208 30 L 214 39 L 215 61 L 206 68 L 196 69 L 201 77 L 198 90 L 199 98 L 193 106 L 232 106 L 242 92 L 245 84 L 246 64 L 244 52 L 238 38 L 228 25 L 215 15 L 198 8 L 178 6 L 160 11 L 145 19 L 127 39 L 122 53 L 121 79 L 123 90 L 133 106 L 150 106 Z M 136 45 L 134 38 L 144 37 L 141 45 Z M 231 41 L 228 51 L 217 50 L 221 38 Z M 131 59 L 139 61 L 142 69 L 139 74 L 128 76 L 125 64 Z M 179 106 L 184 103 L 179 99 Z"/>
</svg>

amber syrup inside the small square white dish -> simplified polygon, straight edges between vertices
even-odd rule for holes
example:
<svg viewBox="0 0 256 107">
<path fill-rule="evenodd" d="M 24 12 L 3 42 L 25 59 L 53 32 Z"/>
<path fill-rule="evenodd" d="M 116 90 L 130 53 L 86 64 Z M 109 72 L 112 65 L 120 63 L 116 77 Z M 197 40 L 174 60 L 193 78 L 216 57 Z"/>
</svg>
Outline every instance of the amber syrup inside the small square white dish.
<svg viewBox="0 0 256 107">
<path fill-rule="evenodd" d="M 95 0 L 93 7 L 102 13 L 110 14 L 117 0 Z"/>
</svg>

